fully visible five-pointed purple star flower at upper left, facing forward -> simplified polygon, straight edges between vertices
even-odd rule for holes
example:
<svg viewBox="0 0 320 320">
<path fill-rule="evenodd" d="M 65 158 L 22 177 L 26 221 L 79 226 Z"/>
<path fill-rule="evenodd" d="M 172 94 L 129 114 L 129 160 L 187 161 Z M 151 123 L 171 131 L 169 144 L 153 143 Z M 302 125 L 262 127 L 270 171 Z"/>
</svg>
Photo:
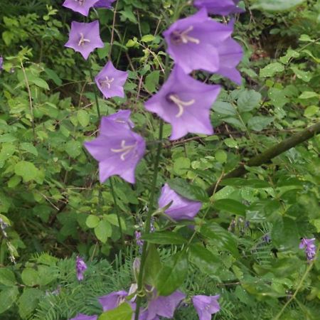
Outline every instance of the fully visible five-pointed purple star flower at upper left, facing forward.
<svg viewBox="0 0 320 320">
<path fill-rule="evenodd" d="M 104 46 L 105 44 L 100 38 L 99 21 L 90 23 L 73 21 L 71 23 L 69 40 L 65 43 L 65 47 L 80 52 L 82 57 L 87 60 L 95 48 L 103 48 Z"/>
</svg>

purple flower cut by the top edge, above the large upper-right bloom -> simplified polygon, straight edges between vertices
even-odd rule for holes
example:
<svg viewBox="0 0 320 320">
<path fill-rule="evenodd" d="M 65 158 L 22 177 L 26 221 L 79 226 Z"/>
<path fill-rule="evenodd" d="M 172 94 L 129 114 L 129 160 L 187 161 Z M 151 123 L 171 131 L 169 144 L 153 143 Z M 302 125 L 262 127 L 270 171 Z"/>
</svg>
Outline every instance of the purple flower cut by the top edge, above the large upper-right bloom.
<svg viewBox="0 0 320 320">
<path fill-rule="evenodd" d="M 209 14 L 240 14 L 244 10 L 240 9 L 237 4 L 240 0 L 194 0 L 193 5 L 196 8 L 206 8 Z"/>
</svg>

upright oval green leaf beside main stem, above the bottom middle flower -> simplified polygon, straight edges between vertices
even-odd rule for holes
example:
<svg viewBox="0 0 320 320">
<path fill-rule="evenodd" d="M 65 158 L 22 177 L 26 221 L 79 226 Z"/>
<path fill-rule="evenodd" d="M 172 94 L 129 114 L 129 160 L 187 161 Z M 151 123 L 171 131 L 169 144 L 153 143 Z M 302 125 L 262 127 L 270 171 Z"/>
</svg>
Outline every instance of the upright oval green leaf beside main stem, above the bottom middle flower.
<svg viewBox="0 0 320 320">
<path fill-rule="evenodd" d="M 156 289 L 161 296 L 169 296 L 183 284 L 188 273 L 188 257 L 186 252 L 172 255 L 162 267 L 156 279 Z"/>
</svg>

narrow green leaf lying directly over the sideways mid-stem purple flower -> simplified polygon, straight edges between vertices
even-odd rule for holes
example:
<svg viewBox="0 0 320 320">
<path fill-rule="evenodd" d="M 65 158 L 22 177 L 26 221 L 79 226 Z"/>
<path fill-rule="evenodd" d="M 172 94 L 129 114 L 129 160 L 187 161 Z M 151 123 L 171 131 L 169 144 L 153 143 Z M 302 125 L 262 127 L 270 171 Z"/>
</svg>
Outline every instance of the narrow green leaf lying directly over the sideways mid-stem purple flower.
<svg viewBox="0 0 320 320">
<path fill-rule="evenodd" d="M 208 201 L 208 194 L 203 188 L 199 186 L 193 186 L 187 183 L 185 180 L 181 178 L 174 178 L 168 181 L 168 184 L 171 189 L 174 189 L 176 193 L 184 198 L 193 200 L 193 201 Z"/>
</svg>

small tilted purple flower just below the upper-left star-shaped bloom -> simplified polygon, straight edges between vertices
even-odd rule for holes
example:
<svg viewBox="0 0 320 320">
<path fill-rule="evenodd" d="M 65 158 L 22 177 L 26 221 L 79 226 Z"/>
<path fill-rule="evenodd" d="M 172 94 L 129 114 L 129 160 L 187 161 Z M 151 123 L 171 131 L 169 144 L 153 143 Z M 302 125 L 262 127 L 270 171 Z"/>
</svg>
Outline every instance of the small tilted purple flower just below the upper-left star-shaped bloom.
<svg viewBox="0 0 320 320">
<path fill-rule="evenodd" d="M 109 61 L 95 77 L 95 83 L 107 99 L 110 97 L 124 97 L 123 86 L 127 78 L 127 72 L 117 70 L 112 62 Z"/>
</svg>

